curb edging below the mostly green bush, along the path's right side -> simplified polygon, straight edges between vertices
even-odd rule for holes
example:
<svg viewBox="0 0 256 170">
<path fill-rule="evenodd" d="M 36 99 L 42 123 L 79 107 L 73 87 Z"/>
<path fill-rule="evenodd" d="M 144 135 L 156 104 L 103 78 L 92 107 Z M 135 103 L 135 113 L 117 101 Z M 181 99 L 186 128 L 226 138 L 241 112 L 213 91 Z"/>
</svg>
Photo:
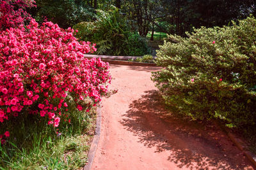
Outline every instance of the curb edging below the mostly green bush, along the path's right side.
<svg viewBox="0 0 256 170">
<path fill-rule="evenodd" d="M 218 122 L 217 124 L 220 125 Z M 231 141 L 237 146 L 237 148 L 239 148 L 239 150 L 243 152 L 243 154 L 252 162 L 253 166 L 256 168 L 256 155 L 246 150 L 245 143 L 241 139 L 236 138 L 236 136 L 232 134 L 227 127 L 224 127 L 223 125 L 220 125 L 220 127 L 227 133 Z"/>
</svg>

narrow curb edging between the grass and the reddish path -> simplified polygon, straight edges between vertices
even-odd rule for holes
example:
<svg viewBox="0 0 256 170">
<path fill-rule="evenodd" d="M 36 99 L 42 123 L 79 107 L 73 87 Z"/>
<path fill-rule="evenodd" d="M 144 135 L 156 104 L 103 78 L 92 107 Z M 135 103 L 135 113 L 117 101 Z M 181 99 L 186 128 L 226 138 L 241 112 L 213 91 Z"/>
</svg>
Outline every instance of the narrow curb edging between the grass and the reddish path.
<svg viewBox="0 0 256 170">
<path fill-rule="evenodd" d="M 100 139 L 100 124 L 101 124 L 101 109 L 99 106 L 97 108 L 97 122 L 96 122 L 95 135 L 93 137 L 92 145 L 90 146 L 90 150 L 88 153 L 88 163 L 86 164 L 86 166 L 84 166 L 83 170 L 92 169 L 93 159 L 95 157 L 95 153 L 96 153 L 97 146 Z"/>
</svg>

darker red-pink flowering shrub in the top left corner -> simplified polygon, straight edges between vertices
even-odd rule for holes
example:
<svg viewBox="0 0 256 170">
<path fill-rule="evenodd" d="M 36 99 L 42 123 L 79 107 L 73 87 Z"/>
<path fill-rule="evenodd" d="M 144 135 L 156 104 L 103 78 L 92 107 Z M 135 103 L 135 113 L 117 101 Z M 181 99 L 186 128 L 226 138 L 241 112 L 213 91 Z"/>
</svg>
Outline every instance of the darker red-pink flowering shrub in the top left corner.
<svg viewBox="0 0 256 170">
<path fill-rule="evenodd" d="M 2 0 L 0 3 L 0 31 L 10 27 L 23 26 L 24 22 L 32 19 L 26 12 L 26 8 L 35 6 L 33 0 Z"/>
</svg>

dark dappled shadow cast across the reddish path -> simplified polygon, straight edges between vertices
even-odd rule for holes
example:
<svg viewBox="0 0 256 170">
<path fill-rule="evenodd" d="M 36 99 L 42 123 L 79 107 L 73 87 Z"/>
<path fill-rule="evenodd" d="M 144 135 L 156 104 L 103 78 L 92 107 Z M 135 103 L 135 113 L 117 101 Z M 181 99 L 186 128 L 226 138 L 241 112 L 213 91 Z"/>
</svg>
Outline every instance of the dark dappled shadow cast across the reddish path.
<svg viewBox="0 0 256 170">
<path fill-rule="evenodd" d="M 246 169 L 251 166 L 227 136 L 211 122 L 184 120 L 166 111 L 156 90 L 145 92 L 129 105 L 121 122 L 140 143 L 156 152 L 170 151 L 166 159 L 189 169 Z M 245 161 L 245 162 L 244 162 Z"/>
</svg>

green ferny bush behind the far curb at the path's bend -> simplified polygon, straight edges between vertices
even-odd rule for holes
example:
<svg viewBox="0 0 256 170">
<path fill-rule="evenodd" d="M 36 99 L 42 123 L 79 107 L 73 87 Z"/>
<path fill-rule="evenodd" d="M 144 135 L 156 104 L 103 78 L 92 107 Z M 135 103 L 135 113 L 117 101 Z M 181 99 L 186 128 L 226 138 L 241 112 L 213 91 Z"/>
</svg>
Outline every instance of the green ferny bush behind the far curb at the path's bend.
<svg viewBox="0 0 256 170">
<path fill-rule="evenodd" d="M 74 25 L 79 40 L 97 44 L 97 54 L 104 55 L 143 55 L 148 53 L 145 38 L 132 32 L 127 19 L 120 14 L 118 8 L 97 10 L 95 22 L 81 22 Z"/>
</svg>

